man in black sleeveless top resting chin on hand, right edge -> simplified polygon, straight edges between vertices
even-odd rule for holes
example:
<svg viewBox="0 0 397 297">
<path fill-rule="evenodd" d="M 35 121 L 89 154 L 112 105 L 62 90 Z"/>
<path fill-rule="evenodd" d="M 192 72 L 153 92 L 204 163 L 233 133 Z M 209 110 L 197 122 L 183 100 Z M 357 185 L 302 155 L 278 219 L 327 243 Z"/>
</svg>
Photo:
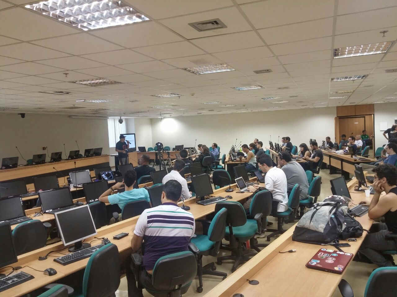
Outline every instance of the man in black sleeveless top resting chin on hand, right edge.
<svg viewBox="0 0 397 297">
<path fill-rule="evenodd" d="M 397 244 L 393 239 L 386 239 L 390 232 L 397 233 L 397 168 L 389 164 L 372 169 L 375 173 L 373 187 L 375 194 L 371 202 L 362 201 L 360 204 L 369 206 L 368 217 L 385 218 L 385 223 L 375 223 L 370 228 L 361 244 L 360 253 L 379 267 L 395 266 L 393 257 L 382 254 L 385 250 L 396 250 Z M 380 197 L 380 193 L 386 195 Z"/>
</svg>

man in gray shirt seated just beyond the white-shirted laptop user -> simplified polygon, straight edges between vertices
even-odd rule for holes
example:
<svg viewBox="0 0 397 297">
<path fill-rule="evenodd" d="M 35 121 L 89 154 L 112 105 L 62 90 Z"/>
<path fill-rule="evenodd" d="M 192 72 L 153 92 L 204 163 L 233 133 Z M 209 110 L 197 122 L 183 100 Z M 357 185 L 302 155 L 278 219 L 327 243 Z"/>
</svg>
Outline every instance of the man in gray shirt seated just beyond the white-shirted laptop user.
<svg viewBox="0 0 397 297">
<path fill-rule="evenodd" d="M 309 183 L 302 166 L 295 160 L 292 160 L 289 152 L 281 152 L 277 159 L 279 167 L 287 177 L 287 192 L 290 193 L 295 184 L 299 184 L 301 187 L 300 200 L 306 199 Z"/>
</svg>

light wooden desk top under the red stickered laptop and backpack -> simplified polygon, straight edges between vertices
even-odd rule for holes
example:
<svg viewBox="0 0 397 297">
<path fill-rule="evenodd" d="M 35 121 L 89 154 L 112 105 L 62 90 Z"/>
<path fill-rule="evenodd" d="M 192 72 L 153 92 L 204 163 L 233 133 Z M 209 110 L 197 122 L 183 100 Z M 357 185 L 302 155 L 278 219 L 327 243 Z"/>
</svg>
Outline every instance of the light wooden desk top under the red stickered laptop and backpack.
<svg viewBox="0 0 397 297">
<path fill-rule="evenodd" d="M 348 183 L 349 190 L 352 191 L 356 183 L 356 179 L 350 181 Z M 364 193 L 351 192 L 351 197 L 356 204 L 365 200 Z M 373 222 L 369 219 L 368 214 L 356 217 L 356 219 L 367 230 Z M 343 274 L 306 268 L 306 263 L 321 246 L 292 241 L 295 226 L 289 228 L 268 247 L 252 257 L 250 261 L 227 276 L 226 280 L 214 287 L 204 297 L 231 297 L 236 293 L 250 297 L 262 297 L 264 292 L 266 295 L 274 297 L 332 296 Z M 365 236 L 366 232 L 362 237 L 357 238 L 357 242 L 349 242 L 351 247 L 343 247 L 343 251 L 357 253 Z M 332 246 L 327 248 L 335 249 Z M 289 249 L 297 251 L 295 253 L 279 253 L 279 251 L 288 251 Z M 249 285 L 247 279 L 258 280 L 259 284 Z"/>
</svg>

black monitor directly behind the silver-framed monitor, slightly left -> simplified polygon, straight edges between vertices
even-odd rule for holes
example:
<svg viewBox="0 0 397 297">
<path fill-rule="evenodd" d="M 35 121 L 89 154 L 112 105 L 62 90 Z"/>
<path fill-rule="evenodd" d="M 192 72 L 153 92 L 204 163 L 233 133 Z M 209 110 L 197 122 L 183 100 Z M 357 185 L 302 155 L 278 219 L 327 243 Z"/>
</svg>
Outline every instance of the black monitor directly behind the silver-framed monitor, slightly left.
<svg viewBox="0 0 397 297">
<path fill-rule="evenodd" d="M 39 192 L 43 213 L 73 205 L 69 187 Z"/>
</svg>

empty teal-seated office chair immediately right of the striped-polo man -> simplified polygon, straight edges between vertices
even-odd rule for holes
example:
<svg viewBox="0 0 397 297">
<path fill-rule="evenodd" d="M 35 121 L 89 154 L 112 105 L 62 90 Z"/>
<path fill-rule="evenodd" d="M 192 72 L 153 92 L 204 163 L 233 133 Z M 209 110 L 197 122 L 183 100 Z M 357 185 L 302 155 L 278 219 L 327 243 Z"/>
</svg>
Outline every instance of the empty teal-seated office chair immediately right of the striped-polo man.
<svg viewBox="0 0 397 297">
<path fill-rule="evenodd" d="M 223 276 L 224 280 L 227 273 L 215 271 L 216 266 L 214 262 L 208 263 L 204 267 L 202 266 L 202 257 L 209 256 L 216 257 L 219 253 L 219 249 L 222 243 L 222 239 L 225 237 L 226 228 L 226 217 L 227 209 L 222 208 L 216 213 L 212 221 L 197 220 L 203 225 L 203 234 L 197 235 L 191 239 L 191 242 L 198 248 L 197 253 L 197 276 L 199 286 L 197 292 L 202 292 L 202 276 L 205 274 L 214 276 Z"/>
</svg>

